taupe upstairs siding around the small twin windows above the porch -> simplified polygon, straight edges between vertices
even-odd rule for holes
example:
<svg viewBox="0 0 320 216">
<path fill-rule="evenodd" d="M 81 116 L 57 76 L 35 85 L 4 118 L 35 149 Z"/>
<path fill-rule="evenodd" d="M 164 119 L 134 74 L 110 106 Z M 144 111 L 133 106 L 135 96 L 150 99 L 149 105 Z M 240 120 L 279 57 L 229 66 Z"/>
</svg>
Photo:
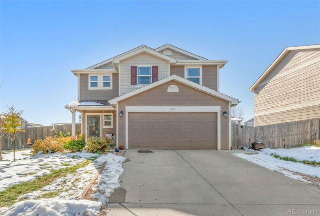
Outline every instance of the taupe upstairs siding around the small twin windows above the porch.
<svg viewBox="0 0 320 216">
<path fill-rule="evenodd" d="M 119 96 L 119 79 L 118 74 L 112 74 L 112 89 L 110 90 L 89 90 L 88 74 L 80 74 L 79 79 L 79 100 L 110 100 Z"/>
</svg>

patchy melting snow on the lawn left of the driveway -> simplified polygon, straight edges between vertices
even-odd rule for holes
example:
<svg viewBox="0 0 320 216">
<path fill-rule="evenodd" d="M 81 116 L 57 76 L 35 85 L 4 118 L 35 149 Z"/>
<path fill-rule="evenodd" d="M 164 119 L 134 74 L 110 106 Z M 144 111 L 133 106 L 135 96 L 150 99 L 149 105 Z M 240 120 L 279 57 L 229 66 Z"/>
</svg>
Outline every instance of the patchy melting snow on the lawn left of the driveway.
<svg viewBox="0 0 320 216">
<path fill-rule="evenodd" d="M 24 181 L 32 181 L 38 176 L 47 174 L 50 169 L 63 169 L 84 162 L 88 158 L 96 159 L 76 173 L 67 174 L 65 177 L 56 179 L 51 184 L 42 187 L 38 191 L 26 193 L 18 197 L 18 200 L 11 207 L 0 208 L 4 215 L 96 215 L 101 205 L 105 205 L 110 194 L 120 184 L 119 176 L 122 174 L 122 162 L 124 157 L 107 154 L 99 155 L 92 153 L 54 153 L 47 155 L 35 155 L 25 158 L 24 153 L 29 150 L 19 151 L 16 154 L 17 161 L 0 161 L 0 191 L 10 185 Z M 17 153 L 17 152 L 16 152 Z M 13 159 L 13 152 L 6 153 L 5 159 Z M 2 156 L 3 156 L 2 155 Z M 20 155 L 20 156 L 18 156 Z M 24 156 L 23 156 L 24 155 Z M 107 162 L 104 170 L 96 180 L 97 184 L 92 185 L 96 189 L 93 195 L 97 201 L 79 200 L 85 187 L 99 170 L 99 166 Z M 41 198 L 41 195 L 49 192 L 57 192 L 54 198 Z"/>
</svg>

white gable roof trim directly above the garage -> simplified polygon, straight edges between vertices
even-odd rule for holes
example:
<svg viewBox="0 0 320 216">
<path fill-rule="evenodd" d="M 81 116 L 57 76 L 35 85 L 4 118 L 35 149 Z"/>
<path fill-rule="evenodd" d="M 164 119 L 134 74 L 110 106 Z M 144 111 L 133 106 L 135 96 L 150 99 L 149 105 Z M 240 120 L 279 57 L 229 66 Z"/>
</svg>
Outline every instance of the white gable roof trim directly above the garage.
<svg viewBox="0 0 320 216">
<path fill-rule="evenodd" d="M 124 95 L 122 95 L 122 96 L 119 96 L 119 97 L 117 97 L 117 98 L 114 98 L 114 99 L 110 100 L 109 103 L 110 103 L 111 105 L 116 105 L 117 102 L 119 102 L 119 101 L 125 100 L 125 99 L 127 99 L 127 98 L 129 98 L 129 97 L 132 97 L 132 96 L 134 96 L 134 95 L 137 95 L 137 94 L 139 94 L 139 93 L 142 93 L 142 92 L 144 92 L 144 91 L 147 91 L 147 90 L 149 90 L 149 89 L 152 89 L 152 88 L 157 87 L 157 86 L 159 86 L 159 85 L 162 85 L 162 84 L 164 84 L 164 83 L 167 83 L 167 82 L 169 82 L 169 81 L 171 81 L 171 80 L 177 81 L 177 82 L 179 82 L 179 83 L 181 83 L 181 84 L 184 84 L 184 85 L 186 85 L 186 86 L 192 87 L 192 88 L 197 89 L 197 90 L 199 90 L 199 91 L 202 91 L 202 92 L 204 92 L 204 93 L 213 95 L 213 96 L 215 96 L 215 97 L 217 97 L 217 98 L 220 98 L 220 99 L 223 99 L 223 100 L 226 100 L 226 101 L 230 101 L 230 102 L 231 102 L 231 105 L 236 105 L 236 104 L 238 104 L 238 103 L 240 102 L 239 100 L 237 100 L 237 99 L 235 99 L 235 98 L 232 98 L 232 97 L 227 96 L 227 95 L 225 95 L 225 94 L 222 94 L 222 93 L 220 93 L 220 92 L 214 91 L 214 90 L 209 89 L 209 88 L 207 88 L 207 87 L 205 87 L 205 86 L 196 84 L 196 83 L 194 83 L 194 82 L 192 82 L 192 81 L 183 79 L 183 78 L 181 78 L 181 77 L 179 77 L 179 76 L 176 76 L 176 75 L 171 75 L 171 76 L 166 77 L 166 78 L 164 78 L 164 79 L 162 79 L 162 80 L 159 80 L 159 81 L 157 81 L 157 82 L 155 82 L 155 83 L 151 83 L 151 84 L 149 84 L 149 85 L 147 85 L 147 86 L 141 87 L 141 88 L 139 88 L 139 89 L 137 89 L 137 90 L 134 90 L 134 91 L 132 91 L 132 92 L 129 92 L 129 93 L 127 93 L 127 94 L 124 94 Z"/>
</svg>

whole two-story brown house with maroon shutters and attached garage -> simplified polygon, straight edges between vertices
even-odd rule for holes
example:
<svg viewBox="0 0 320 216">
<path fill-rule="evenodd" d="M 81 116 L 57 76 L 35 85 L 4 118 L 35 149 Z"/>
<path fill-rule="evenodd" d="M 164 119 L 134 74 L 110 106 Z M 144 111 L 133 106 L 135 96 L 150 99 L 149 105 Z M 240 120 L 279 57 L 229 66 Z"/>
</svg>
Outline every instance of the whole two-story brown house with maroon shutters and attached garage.
<svg viewBox="0 0 320 216">
<path fill-rule="evenodd" d="M 71 70 L 78 78 L 78 100 L 65 106 L 72 112 L 72 135 L 77 111 L 86 139 L 116 134 L 117 146 L 126 149 L 230 149 L 227 113 L 239 100 L 219 92 L 226 62 L 169 44 L 142 45 Z"/>
</svg>

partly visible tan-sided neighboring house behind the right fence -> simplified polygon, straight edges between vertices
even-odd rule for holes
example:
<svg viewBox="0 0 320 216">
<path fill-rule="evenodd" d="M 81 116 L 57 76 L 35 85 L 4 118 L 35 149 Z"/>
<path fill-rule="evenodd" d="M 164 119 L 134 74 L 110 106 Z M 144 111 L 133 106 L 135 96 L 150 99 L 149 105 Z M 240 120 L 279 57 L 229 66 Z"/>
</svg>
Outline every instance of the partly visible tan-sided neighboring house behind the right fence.
<svg viewBox="0 0 320 216">
<path fill-rule="evenodd" d="M 320 116 L 320 45 L 286 47 L 251 86 L 254 126 Z"/>
</svg>

